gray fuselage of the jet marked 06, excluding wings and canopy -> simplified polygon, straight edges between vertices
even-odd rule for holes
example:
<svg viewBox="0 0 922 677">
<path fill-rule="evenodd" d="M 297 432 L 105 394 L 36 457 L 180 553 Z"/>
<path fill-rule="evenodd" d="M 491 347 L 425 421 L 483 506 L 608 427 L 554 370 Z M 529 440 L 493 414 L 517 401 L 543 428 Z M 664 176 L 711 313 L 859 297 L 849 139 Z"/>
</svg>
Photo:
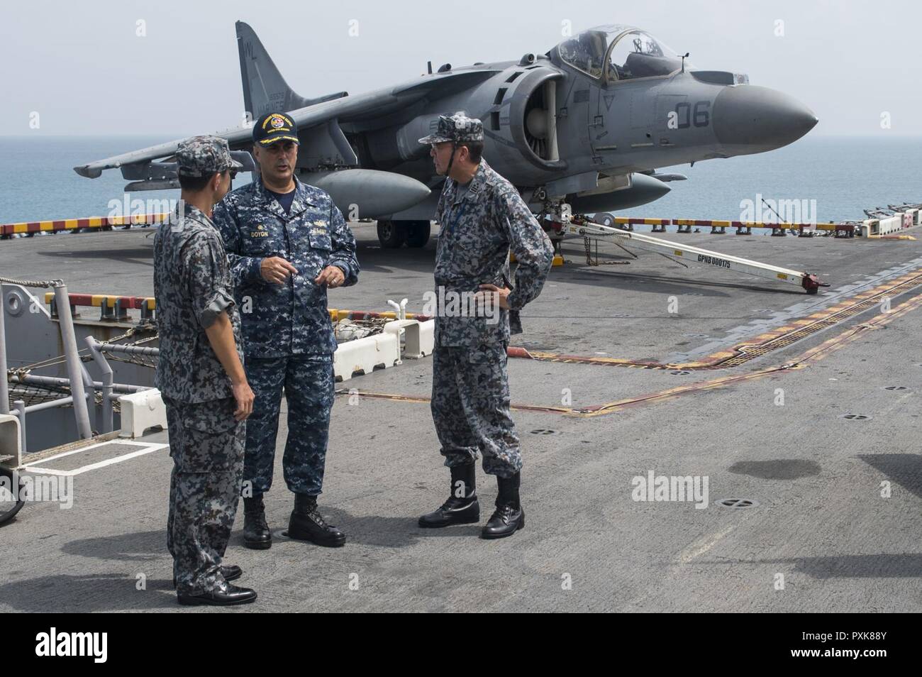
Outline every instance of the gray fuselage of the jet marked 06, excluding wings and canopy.
<svg viewBox="0 0 922 677">
<path fill-rule="evenodd" d="M 413 141 L 429 133 L 439 114 L 463 110 L 483 121 L 484 155 L 497 172 L 519 187 L 558 182 L 566 195 L 598 189 L 599 173 L 650 172 L 780 148 L 816 124 L 813 113 L 786 94 L 730 84 L 734 76 L 724 72 L 686 68 L 664 77 L 606 82 L 563 63 L 556 48 L 527 65 L 502 62 L 452 72 L 478 71 L 487 77 L 475 87 L 431 101 L 410 123 L 372 132 L 372 139 L 395 135 L 399 156 L 376 153 L 372 146 L 366 157 L 360 154 L 362 166 L 431 184 L 436 177 L 429 148 Z M 556 100 L 556 158 L 534 152 L 527 133 L 529 101 L 537 89 L 549 87 Z M 349 125 L 343 127 L 351 136 Z"/>
</svg>

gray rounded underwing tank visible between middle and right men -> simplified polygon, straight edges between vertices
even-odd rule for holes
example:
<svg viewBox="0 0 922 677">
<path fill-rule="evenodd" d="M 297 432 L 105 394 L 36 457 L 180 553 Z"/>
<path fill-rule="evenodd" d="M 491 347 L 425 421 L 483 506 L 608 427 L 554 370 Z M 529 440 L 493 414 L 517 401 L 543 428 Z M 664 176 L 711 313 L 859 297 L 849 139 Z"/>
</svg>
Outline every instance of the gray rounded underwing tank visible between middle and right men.
<svg viewBox="0 0 922 677">
<path fill-rule="evenodd" d="M 394 214 L 422 202 L 431 193 L 428 186 L 410 176 L 379 170 L 302 172 L 299 178 L 329 193 L 347 220 Z"/>
</svg>

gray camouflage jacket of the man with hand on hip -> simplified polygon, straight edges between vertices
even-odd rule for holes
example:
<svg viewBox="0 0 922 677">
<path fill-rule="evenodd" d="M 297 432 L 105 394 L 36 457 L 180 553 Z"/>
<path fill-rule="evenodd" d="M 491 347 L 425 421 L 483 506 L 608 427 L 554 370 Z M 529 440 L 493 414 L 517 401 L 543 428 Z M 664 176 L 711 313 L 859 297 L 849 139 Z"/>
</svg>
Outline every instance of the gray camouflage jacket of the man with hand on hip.
<svg viewBox="0 0 922 677">
<path fill-rule="evenodd" d="M 435 209 L 435 220 L 442 225 L 435 250 L 435 284 L 453 292 L 477 291 L 481 284 L 512 288 L 508 297 L 512 312 L 501 309 L 499 321 L 488 322 L 491 318 L 484 315 L 440 311 L 435 321 L 436 343 L 495 345 L 522 331 L 518 312 L 541 292 L 553 246 L 518 191 L 487 160 L 480 160 L 467 193 L 459 200 L 456 193 L 455 181 L 446 178 Z M 518 260 L 514 281 L 509 275 L 510 251 Z M 436 294 L 441 290 L 436 289 Z"/>
</svg>

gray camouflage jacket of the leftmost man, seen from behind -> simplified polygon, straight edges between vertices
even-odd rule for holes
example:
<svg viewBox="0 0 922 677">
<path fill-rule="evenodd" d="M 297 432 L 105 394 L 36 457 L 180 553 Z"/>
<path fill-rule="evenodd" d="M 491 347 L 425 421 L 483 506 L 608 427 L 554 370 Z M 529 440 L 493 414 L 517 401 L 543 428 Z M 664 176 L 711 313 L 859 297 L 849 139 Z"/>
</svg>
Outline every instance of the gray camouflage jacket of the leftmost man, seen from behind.
<svg viewBox="0 0 922 677">
<path fill-rule="evenodd" d="M 154 237 L 154 296 L 160 358 L 155 385 L 185 403 L 231 398 L 231 379 L 205 333 L 226 311 L 243 360 L 240 313 L 233 300 L 227 255 L 214 223 L 183 205 L 183 216 L 163 223 Z"/>
</svg>

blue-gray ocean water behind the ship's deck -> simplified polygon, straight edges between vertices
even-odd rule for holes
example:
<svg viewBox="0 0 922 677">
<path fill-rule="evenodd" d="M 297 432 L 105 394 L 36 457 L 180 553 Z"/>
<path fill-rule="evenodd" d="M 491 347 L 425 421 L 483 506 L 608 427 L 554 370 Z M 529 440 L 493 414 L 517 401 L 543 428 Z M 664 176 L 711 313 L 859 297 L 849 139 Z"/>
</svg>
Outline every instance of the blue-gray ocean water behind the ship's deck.
<svg viewBox="0 0 922 677">
<path fill-rule="evenodd" d="M 73 167 L 165 140 L 168 137 L 0 137 L 0 223 L 109 214 L 110 201 L 124 204 L 127 182 L 121 173 L 110 170 L 98 179 L 86 179 Z M 758 208 L 762 196 L 775 203 L 806 201 L 798 204 L 817 221 L 857 220 L 864 217 L 864 208 L 922 202 L 916 168 L 920 158 L 922 137 L 808 135 L 758 155 L 659 168 L 683 173 L 688 181 L 670 183 L 667 196 L 619 216 L 747 220 L 741 218 L 746 207 Z M 235 186 L 248 181 L 249 174 L 243 174 Z M 130 199 L 178 196 L 178 191 L 143 191 L 132 193 Z"/>
</svg>

